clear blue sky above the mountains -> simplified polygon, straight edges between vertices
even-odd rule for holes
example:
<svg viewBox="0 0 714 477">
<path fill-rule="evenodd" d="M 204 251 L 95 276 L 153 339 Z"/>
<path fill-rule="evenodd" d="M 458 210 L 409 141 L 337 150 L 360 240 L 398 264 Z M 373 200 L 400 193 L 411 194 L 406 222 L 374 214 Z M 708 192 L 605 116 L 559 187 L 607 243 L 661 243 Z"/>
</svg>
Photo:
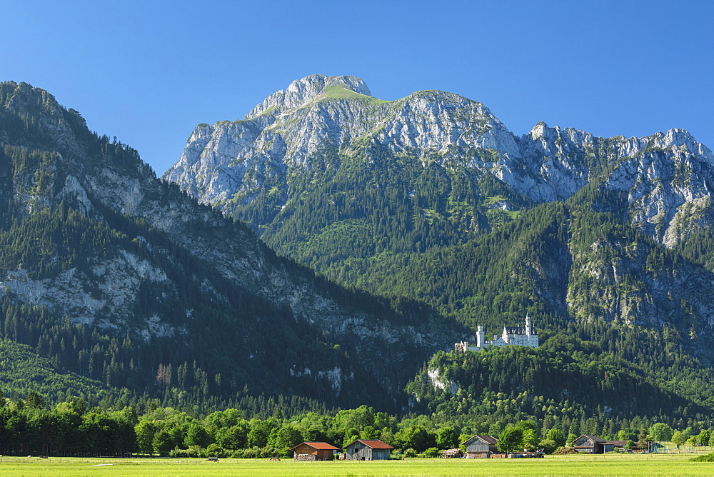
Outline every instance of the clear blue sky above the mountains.
<svg viewBox="0 0 714 477">
<path fill-rule="evenodd" d="M 241 119 L 308 74 L 380 99 L 441 89 L 516 134 L 688 129 L 714 149 L 714 2 L 4 2 L 0 81 L 25 81 L 157 174 L 198 123 Z"/>
</svg>

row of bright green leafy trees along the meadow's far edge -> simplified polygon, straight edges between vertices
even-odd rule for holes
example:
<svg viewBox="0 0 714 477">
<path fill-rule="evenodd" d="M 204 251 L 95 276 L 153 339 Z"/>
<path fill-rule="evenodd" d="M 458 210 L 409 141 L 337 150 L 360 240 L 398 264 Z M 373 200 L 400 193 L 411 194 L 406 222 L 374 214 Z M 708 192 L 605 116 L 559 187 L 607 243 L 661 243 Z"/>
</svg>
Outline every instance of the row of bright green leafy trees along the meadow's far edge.
<svg viewBox="0 0 714 477">
<path fill-rule="evenodd" d="M 553 452 L 572 445 L 589 428 L 549 427 L 544 420 L 503 420 L 489 424 L 483 416 L 447 418 L 443 413 L 395 416 L 369 406 L 329 412 L 249 416 L 226 408 L 207 414 L 170 407 L 101 408 L 71 398 L 50 406 L 39 393 L 24 399 L 0 396 L 0 449 L 6 455 L 127 456 L 154 454 L 183 457 L 289 457 L 303 441 L 326 441 L 337 447 L 355 439 L 381 439 L 407 456 L 436 456 L 461 446 L 468 438 L 495 435 L 501 451 L 542 449 Z M 633 441 L 673 441 L 714 445 L 706 421 L 675 429 L 651 420 L 621 421 L 623 428 L 600 437 Z M 463 448 L 463 446 L 462 446 Z"/>
</svg>

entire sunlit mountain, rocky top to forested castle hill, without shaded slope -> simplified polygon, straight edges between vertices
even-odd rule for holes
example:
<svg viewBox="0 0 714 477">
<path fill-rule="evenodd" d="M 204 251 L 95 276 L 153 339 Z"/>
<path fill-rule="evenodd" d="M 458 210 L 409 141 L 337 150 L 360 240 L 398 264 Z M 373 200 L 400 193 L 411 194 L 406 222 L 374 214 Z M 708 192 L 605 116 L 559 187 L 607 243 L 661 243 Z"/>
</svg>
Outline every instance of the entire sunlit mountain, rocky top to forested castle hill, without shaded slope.
<svg viewBox="0 0 714 477">
<path fill-rule="evenodd" d="M 359 79 L 315 75 L 241 121 L 197 126 L 165 177 L 328 278 L 487 336 L 530 314 L 542 348 L 439 354 L 408 387 L 414 410 L 711 413 L 714 156 L 686 131 L 540 123 L 518 137 L 462 96 L 379 101 Z"/>
</svg>

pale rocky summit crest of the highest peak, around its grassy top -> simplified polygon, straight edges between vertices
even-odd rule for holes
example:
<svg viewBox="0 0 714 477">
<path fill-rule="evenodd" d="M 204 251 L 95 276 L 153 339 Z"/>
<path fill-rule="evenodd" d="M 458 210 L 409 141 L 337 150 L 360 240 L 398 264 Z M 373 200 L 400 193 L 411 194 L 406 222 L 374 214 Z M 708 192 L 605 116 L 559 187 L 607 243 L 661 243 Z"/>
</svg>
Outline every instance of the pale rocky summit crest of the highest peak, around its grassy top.
<svg viewBox="0 0 714 477">
<path fill-rule="evenodd" d="M 279 90 L 268 96 L 265 101 L 258 104 L 248 114 L 245 119 L 253 119 L 266 112 L 286 111 L 297 108 L 303 104 L 316 99 L 321 94 L 325 94 L 330 86 L 353 91 L 357 94 L 371 96 L 371 92 L 363 79 L 356 76 L 325 76 L 323 74 L 311 74 L 303 79 L 296 79 L 285 90 Z"/>
</svg>

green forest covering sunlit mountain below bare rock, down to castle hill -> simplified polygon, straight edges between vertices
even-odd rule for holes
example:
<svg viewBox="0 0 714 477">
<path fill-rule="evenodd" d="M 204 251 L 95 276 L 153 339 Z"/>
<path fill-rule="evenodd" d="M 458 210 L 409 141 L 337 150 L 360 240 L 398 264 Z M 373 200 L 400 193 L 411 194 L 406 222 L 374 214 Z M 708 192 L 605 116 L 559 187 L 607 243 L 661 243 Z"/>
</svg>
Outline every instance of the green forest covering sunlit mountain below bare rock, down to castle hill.
<svg viewBox="0 0 714 477">
<path fill-rule="evenodd" d="M 623 195 L 598 181 L 533 206 L 491 176 L 378 145 L 325 154 L 325 166 L 291 179 L 296 199 L 260 224 L 268 243 L 328 278 L 423 300 L 487 336 L 530 313 L 545 344 L 462 363 L 458 396 L 416 378 L 408 391 L 419 409 L 503 419 L 491 405 L 500 393 L 513 401 L 508 413 L 545 418 L 546 403 L 572 408 L 568 419 L 603 416 L 600 424 L 712 412 L 708 231 L 667 248 L 630 224 Z M 451 355 L 438 356 L 429 366 Z"/>
</svg>

